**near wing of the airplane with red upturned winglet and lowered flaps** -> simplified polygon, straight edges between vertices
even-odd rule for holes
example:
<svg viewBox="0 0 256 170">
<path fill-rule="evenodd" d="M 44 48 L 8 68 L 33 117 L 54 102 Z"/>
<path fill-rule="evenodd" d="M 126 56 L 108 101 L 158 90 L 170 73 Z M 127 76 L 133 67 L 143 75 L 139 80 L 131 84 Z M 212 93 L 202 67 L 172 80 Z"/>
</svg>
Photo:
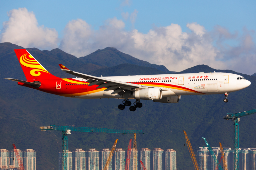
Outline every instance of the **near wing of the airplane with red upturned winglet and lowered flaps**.
<svg viewBox="0 0 256 170">
<path fill-rule="evenodd" d="M 107 79 L 107 78 L 103 78 L 103 77 L 95 77 L 95 76 L 91 76 L 91 75 L 87 75 L 87 74 L 78 73 L 78 72 L 69 70 L 67 67 L 65 67 L 62 64 L 59 64 L 59 66 L 62 71 L 65 71 L 74 76 L 86 79 L 87 82 L 90 83 L 89 86 L 99 85 L 98 87 L 96 87 L 96 89 L 104 87 L 104 88 L 107 88 L 104 91 L 114 90 L 114 92 L 112 92 L 111 94 L 118 93 L 119 95 L 122 95 L 127 90 L 128 91 L 136 91 L 136 90 L 140 90 L 143 88 L 148 88 L 148 86 L 142 86 L 142 85 L 138 85 L 138 84 L 126 83 L 126 82 L 111 80 L 111 79 Z M 153 88 L 153 87 L 150 87 L 150 88 Z"/>
</svg>

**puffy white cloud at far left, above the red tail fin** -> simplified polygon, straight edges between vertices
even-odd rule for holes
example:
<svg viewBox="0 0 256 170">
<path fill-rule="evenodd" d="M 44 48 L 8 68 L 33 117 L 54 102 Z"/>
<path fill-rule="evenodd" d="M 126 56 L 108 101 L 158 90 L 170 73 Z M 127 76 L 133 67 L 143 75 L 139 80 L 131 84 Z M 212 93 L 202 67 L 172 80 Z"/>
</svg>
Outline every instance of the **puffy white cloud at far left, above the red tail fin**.
<svg viewBox="0 0 256 170">
<path fill-rule="evenodd" d="M 55 29 L 39 26 L 35 14 L 26 8 L 8 12 L 9 20 L 3 23 L 1 42 L 11 42 L 24 48 L 57 48 L 58 33 Z"/>
</svg>

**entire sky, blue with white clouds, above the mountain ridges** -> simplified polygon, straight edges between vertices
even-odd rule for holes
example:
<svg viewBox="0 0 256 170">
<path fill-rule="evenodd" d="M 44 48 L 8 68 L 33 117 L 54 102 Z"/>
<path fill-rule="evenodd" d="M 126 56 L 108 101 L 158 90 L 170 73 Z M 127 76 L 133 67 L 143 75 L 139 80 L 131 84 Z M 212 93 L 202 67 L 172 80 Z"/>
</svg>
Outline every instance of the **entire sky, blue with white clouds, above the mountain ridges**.
<svg viewBox="0 0 256 170">
<path fill-rule="evenodd" d="M 58 47 L 77 57 L 116 47 L 173 71 L 205 64 L 253 74 L 237 66 L 256 64 L 255 6 L 237 0 L 0 1 L 0 42 Z"/>
</svg>

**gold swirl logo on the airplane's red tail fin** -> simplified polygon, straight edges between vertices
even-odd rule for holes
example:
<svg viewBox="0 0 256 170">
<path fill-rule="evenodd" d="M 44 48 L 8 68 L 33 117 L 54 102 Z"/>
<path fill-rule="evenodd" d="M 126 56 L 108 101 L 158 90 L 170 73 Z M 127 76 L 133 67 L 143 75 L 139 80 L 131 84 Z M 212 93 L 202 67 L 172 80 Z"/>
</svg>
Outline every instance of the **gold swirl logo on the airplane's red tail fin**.
<svg viewBox="0 0 256 170">
<path fill-rule="evenodd" d="M 40 76 L 40 71 L 49 73 L 47 70 L 45 70 L 43 66 L 40 65 L 40 63 L 36 61 L 36 59 L 32 55 L 28 53 L 20 57 L 20 63 L 25 67 L 33 68 L 33 70 L 30 70 L 30 74 L 32 76 Z"/>
</svg>

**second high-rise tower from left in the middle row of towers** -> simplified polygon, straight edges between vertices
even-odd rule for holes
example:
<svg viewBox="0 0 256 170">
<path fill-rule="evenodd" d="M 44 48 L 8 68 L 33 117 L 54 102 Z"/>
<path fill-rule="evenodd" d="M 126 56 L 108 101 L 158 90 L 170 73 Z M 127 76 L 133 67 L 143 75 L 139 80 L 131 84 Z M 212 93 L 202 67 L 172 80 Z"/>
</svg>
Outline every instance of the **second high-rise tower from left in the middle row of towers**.
<svg viewBox="0 0 256 170">
<path fill-rule="evenodd" d="M 85 170 L 85 151 L 83 149 L 76 149 L 72 152 L 72 169 Z"/>
</svg>

